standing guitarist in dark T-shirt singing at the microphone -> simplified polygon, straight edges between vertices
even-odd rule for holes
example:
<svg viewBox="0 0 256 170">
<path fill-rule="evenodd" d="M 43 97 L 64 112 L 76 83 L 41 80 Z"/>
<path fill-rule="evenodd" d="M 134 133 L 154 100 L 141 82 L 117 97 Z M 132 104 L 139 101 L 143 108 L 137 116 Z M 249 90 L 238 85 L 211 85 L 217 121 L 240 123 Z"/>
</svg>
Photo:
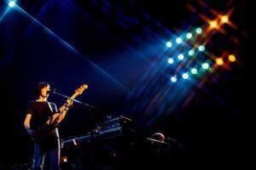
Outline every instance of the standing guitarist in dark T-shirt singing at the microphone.
<svg viewBox="0 0 256 170">
<path fill-rule="evenodd" d="M 39 82 L 36 88 L 37 99 L 29 102 L 24 120 L 26 132 L 34 141 L 32 170 L 60 170 L 60 136 L 57 125 L 66 116 L 72 99 L 59 110 L 55 103 L 49 102 L 50 86 L 48 82 Z"/>
</svg>

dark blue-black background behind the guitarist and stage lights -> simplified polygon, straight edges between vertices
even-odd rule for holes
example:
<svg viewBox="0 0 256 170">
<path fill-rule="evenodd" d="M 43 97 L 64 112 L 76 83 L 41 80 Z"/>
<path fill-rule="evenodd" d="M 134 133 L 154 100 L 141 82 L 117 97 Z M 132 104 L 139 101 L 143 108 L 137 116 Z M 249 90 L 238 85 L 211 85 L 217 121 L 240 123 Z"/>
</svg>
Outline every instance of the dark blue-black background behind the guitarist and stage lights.
<svg viewBox="0 0 256 170">
<path fill-rule="evenodd" d="M 168 38 L 167 30 L 185 31 L 193 20 L 202 23 L 186 7 L 193 4 L 198 13 L 206 15 L 209 8 L 224 12 L 235 8 L 230 20 L 237 29 L 229 32 L 240 42 L 215 37 L 217 45 L 211 50 L 236 49 L 240 63 L 222 71 L 218 81 L 207 83 L 207 90 L 195 91 L 189 105 L 177 106 L 172 114 L 159 116 L 147 127 L 142 124 L 137 134 L 143 139 L 162 132 L 176 139 L 185 149 L 184 164 L 191 167 L 247 166 L 254 112 L 252 78 L 247 76 L 253 57 L 247 47 L 247 2 L 205 3 L 207 8 L 201 9 L 199 2 L 186 0 L 19 1 L 20 8 L 55 34 L 18 10 L 11 9 L 0 20 L 0 162 L 27 163 L 30 159 L 32 141 L 22 122 L 38 82 L 49 82 L 65 95 L 86 83 L 89 88 L 77 99 L 99 108 L 89 110 L 75 103 L 61 122 L 63 139 L 90 132 L 109 115 L 125 114 L 140 123 L 138 116 L 123 111 L 130 105 L 126 96 L 160 53 L 160 38 Z M 6 8 L 7 3 L 1 2 L 1 14 Z M 58 106 L 65 101 L 55 94 L 49 100 Z"/>
</svg>

